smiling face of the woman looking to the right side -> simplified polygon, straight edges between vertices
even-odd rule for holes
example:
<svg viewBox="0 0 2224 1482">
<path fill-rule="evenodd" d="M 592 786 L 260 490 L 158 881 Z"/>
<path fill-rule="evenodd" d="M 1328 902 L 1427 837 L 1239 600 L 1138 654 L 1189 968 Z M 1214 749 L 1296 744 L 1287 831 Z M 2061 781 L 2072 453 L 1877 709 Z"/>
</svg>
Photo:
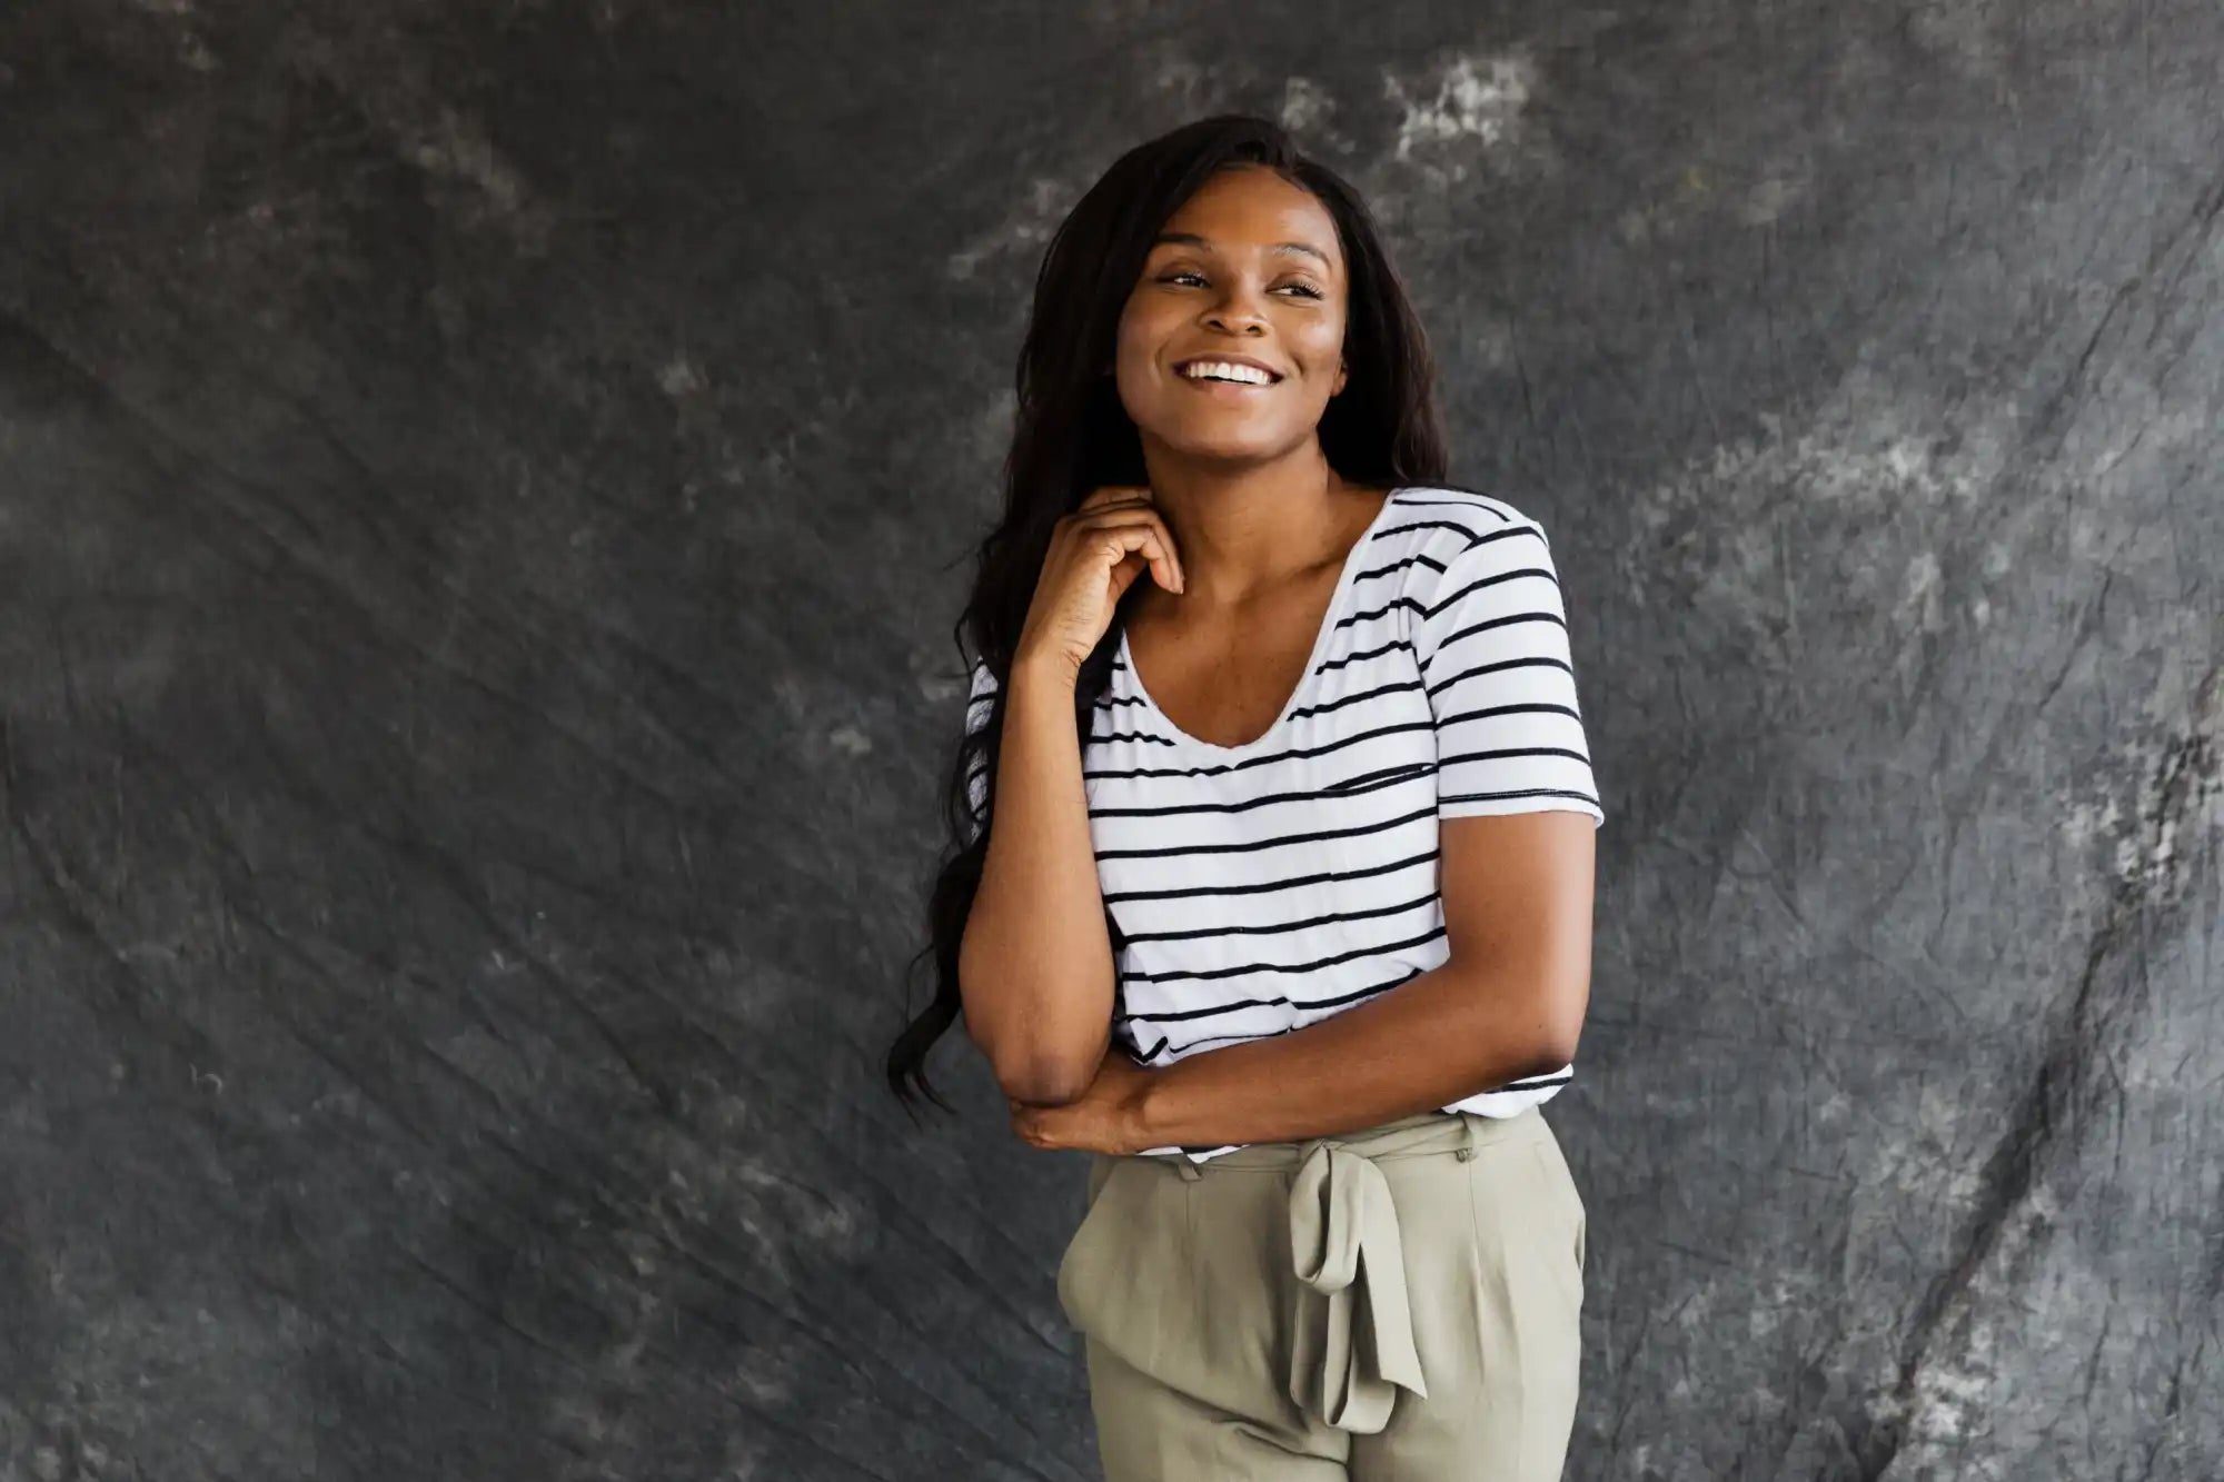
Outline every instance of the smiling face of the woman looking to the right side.
<svg viewBox="0 0 2224 1482">
<path fill-rule="evenodd" d="M 1119 320 L 1119 396 L 1145 447 L 1272 458 L 1314 436 L 1343 389 L 1337 223 L 1270 169 L 1214 174 L 1176 209 Z M 1190 360 L 1254 360 L 1268 383 L 1197 381 Z"/>
</svg>

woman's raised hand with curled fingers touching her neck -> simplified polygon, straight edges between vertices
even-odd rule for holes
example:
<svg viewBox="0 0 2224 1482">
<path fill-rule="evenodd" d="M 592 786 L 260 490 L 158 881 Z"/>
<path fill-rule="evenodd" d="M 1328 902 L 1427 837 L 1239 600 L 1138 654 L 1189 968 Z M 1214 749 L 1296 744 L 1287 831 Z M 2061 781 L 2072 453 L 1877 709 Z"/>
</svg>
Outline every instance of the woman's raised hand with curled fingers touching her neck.
<svg viewBox="0 0 2224 1482">
<path fill-rule="evenodd" d="M 1019 630 L 1014 663 L 1052 661 L 1079 674 L 1096 652 L 1112 610 L 1143 570 L 1168 592 L 1181 592 L 1181 556 L 1148 485 L 1110 483 L 1059 516 L 1034 581 L 1034 601 Z"/>
</svg>

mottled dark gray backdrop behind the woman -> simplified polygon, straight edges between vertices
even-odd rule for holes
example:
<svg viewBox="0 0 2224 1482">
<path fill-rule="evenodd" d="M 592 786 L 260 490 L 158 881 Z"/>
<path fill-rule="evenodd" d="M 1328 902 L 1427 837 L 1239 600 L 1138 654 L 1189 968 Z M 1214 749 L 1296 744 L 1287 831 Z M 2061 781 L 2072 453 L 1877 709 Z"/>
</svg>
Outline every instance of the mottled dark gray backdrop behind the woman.
<svg viewBox="0 0 2224 1482">
<path fill-rule="evenodd" d="M 0 1475 L 1096 1475 L 878 1084 L 1045 231 L 1377 202 L 1595 765 L 1570 1478 L 2224 1473 L 2224 13 L 0 11 Z"/>
</svg>

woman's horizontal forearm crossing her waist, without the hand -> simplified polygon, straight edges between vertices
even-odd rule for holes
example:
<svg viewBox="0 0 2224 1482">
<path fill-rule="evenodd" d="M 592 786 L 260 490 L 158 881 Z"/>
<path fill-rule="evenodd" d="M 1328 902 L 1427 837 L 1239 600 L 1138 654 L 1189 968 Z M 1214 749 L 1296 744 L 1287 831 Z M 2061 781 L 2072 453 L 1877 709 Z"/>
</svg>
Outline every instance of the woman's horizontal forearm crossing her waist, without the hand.
<svg viewBox="0 0 2224 1482">
<path fill-rule="evenodd" d="M 1143 1146 L 1303 1142 L 1559 1070 L 1572 1039 L 1528 972 L 1452 961 L 1319 1024 L 1179 1059 L 1136 1099 Z"/>
</svg>

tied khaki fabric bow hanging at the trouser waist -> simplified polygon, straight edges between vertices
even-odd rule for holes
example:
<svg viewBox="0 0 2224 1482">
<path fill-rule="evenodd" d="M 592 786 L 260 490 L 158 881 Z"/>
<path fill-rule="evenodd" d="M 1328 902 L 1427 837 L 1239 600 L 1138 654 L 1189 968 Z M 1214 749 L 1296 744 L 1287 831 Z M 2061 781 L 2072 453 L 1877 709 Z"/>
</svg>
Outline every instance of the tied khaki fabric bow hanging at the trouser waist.
<svg viewBox="0 0 2224 1482">
<path fill-rule="evenodd" d="M 1290 1259 L 1301 1282 L 1290 1400 L 1361 1435 L 1388 1424 L 1397 1386 L 1426 1400 L 1397 1208 L 1370 1157 L 1337 1142 L 1305 1153 L 1290 1186 Z"/>
</svg>

